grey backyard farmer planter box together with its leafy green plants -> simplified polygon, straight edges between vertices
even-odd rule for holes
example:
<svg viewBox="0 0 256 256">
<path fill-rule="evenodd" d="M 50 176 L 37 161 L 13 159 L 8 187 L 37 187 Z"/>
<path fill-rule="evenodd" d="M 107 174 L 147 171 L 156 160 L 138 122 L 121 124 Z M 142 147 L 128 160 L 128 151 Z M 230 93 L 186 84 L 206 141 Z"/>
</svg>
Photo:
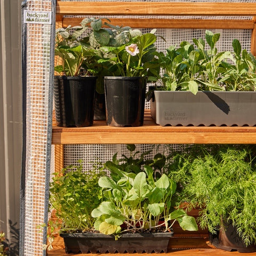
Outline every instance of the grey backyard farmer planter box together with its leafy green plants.
<svg viewBox="0 0 256 256">
<path fill-rule="evenodd" d="M 206 30 L 205 41 L 182 42 L 156 53 L 164 70 L 154 91 L 151 115 L 160 125 L 255 125 L 256 61 L 242 51 L 218 52 L 220 34 Z M 208 47 L 209 50 L 206 50 Z M 255 110 L 256 111 L 256 110 Z"/>
</svg>

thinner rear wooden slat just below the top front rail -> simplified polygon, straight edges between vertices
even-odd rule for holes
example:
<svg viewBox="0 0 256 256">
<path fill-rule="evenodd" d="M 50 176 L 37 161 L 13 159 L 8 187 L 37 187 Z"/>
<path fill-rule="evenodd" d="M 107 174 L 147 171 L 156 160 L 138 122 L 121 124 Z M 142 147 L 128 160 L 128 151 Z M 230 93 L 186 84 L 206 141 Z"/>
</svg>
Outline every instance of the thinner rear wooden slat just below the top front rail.
<svg viewBox="0 0 256 256">
<path fill-rule="evenodd" d="M 78 26 L 83 18 L 63 18 L 63 27 Z M 253 29 L 253 20 L 111 18 L 111 25 L 132 28 Z"/>
</svg>

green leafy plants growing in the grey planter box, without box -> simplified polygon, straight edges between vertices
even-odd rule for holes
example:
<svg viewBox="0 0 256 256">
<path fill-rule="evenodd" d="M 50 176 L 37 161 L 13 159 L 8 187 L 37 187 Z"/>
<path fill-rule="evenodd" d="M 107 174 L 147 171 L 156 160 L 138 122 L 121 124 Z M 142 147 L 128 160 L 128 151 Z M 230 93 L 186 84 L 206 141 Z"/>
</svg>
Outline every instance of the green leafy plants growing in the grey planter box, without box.
<svg viewBox="0 0 256 256">
<path fill-rule="evenodd" d="M 220 33 L 206 30 L 204 39 L 183 41 L 180 47 L 170 46 L 167 53 L 156 52 L 164 71 L 162 89 L 169 91 L 255 91 L 256 60 L 251 53 L 242 51 L 237 39 L 234 52 L 218 52 L 216 44 Z M 195 47 L 197 46 L 197 47 Z"/>
</svg>

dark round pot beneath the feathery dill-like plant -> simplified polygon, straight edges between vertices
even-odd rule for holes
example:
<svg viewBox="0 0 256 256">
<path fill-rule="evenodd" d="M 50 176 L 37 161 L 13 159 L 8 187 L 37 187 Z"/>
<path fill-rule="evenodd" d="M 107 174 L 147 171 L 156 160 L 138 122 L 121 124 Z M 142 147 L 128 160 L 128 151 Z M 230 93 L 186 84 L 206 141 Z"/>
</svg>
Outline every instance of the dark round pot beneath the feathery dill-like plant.
<svg viewBox="0 0 256 256">
<path fill-rule="evenodd" d="M 242 237 L 238 235 L 237 228 L 230 222 L 224 223 L 217 234 L 209 234 L 209 240 L 215 247 L 225 251 L 256 252 L 256 245 L 246 246 Z"/>
</svg>

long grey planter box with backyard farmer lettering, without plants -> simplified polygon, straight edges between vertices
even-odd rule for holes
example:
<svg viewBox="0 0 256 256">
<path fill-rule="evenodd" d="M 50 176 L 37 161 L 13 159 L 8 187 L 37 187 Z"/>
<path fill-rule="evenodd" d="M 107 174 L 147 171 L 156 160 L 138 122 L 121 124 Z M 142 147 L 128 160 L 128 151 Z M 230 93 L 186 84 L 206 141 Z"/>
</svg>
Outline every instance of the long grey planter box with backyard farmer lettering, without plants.
<svg viewBox="0 0 256 256">
<path fill-rule="evenodd" d="M 165 125 L 256 125 L 256 92 L 154 91 L 151 116 Z"/>
</svg>

